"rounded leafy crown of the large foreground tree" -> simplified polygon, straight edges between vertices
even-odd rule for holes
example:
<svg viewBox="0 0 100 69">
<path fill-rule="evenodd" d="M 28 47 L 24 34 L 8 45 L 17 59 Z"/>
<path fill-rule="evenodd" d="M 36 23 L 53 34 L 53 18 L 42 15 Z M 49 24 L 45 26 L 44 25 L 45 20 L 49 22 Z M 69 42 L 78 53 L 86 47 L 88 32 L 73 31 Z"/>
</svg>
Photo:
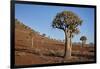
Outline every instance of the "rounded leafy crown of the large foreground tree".
<svg viewBox="0 0 100 69">
<path fill-rule="evenodd" d="M 52 27 L 62 30 L 78 30 L 77 26 L 82 24 L 82 20 L 72 11 L 62 11 L 55 16 Z"/>
</svg>

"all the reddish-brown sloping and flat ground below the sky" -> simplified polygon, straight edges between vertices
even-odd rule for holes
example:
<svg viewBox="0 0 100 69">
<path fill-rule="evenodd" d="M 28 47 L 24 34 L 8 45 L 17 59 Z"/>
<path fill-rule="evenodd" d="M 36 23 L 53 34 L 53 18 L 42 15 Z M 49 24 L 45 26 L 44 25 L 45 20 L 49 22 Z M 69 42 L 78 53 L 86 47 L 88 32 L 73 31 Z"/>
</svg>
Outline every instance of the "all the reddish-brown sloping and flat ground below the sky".
<svg viewBox="0 0 100 69">
<path fill-rule="evenodd" d="M 73 45 L 73 57 L 68 60 L 63 60 L 63 53 L 63 42 L 40 35 L 39 32 L 15 20 L 16 65 L 94 61 L 94 47 Z"/>
</svg>

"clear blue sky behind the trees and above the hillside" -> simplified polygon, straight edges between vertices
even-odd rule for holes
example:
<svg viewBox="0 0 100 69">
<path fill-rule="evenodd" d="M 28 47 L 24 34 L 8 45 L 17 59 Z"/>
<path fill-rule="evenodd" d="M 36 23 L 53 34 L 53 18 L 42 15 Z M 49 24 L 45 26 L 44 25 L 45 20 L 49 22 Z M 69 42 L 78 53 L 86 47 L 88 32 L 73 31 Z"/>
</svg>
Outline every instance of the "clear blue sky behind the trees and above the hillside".
<svg viewBox="0 0 100 69">
<path fill-rule="evenodd" d="M 64 40 L 64 32 L 51 26 L 56 14 L 64 10 L 74 12 L 83 20 L 79 27 L 80 33 L 72 41 L 80 42 L 80 37 L 85 35 L 87 43 L 94 43 L 94 8 L 16 4 L 15 18 L 40 34 L 45 33 L 51 38 Z"/>
</svg>

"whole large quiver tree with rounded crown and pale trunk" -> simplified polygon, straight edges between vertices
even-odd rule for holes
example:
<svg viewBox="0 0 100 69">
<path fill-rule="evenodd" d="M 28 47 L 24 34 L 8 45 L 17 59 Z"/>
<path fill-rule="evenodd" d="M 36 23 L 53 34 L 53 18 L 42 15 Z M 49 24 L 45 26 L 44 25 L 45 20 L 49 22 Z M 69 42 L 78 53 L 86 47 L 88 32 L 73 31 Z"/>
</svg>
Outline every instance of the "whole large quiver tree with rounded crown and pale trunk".
<svg viewBox="0 0 100 69">
<path fill-rule="evenodd" d="M 65 52 L 63 57 L 71 57 L 72 37 L 75 33 L 79 33 L 78 26 L 82 24 L 82 20 L 72 11 L 62 11 L 55 16 L 52 27 L 61 29 L 65 33 Z"/>
</svg>

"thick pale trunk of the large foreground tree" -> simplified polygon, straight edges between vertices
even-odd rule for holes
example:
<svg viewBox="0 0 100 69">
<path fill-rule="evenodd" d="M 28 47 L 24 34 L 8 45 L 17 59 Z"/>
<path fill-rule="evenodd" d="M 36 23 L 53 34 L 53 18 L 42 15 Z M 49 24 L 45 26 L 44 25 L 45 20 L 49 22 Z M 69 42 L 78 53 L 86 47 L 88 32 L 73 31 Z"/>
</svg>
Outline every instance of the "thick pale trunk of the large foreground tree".
<svg viewBox="0 0 100 69">
<path fill-rule="evenodd" d="M 65 53 L 64 58 L 70 58 L 71 57 L 71 42 L 70 42 L 70 31 L 65 31 Z"/>
</svg>

